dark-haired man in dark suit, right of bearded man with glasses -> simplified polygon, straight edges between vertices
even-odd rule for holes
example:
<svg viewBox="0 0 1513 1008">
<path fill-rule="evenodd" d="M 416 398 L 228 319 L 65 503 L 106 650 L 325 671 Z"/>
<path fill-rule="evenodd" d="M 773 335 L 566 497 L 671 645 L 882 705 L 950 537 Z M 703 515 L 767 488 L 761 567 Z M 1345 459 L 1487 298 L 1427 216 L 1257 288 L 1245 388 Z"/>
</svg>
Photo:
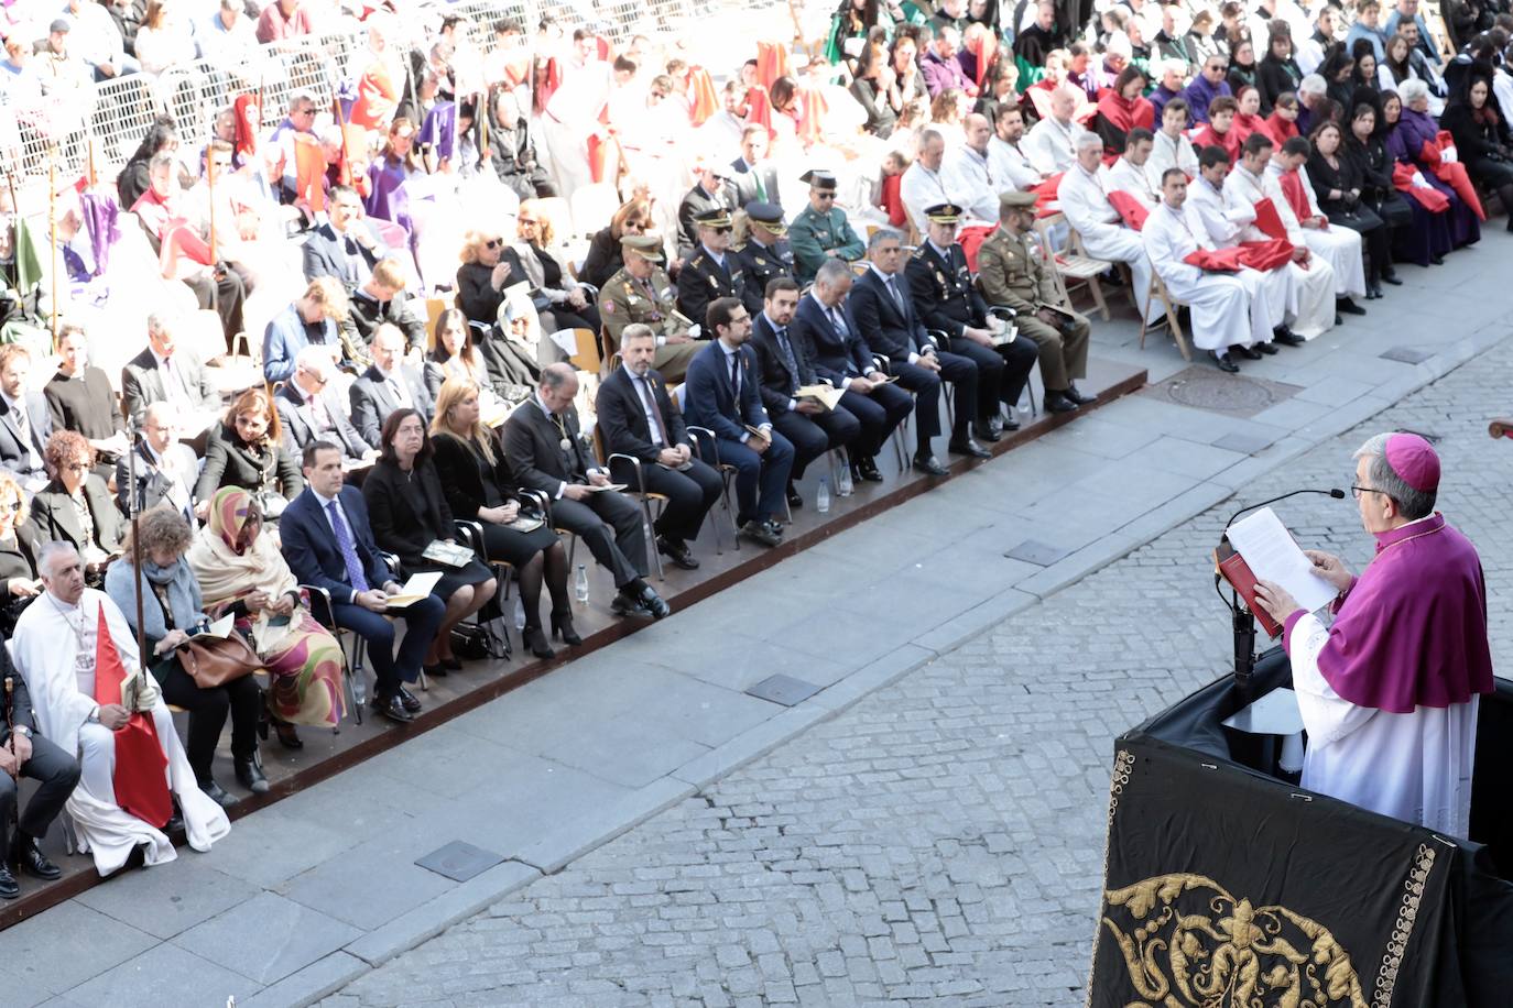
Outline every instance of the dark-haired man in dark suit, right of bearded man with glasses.
<svg viewBox="0 0 1513 1008">
<path fill-rule="evenodd" d="M 752 349 L 761 372 L 761 404 L 772 425 L 793 443 L 793 468 L 788 473 L 788 506 L 799 508 L 794 482 L 803 479 L 809 462 L 825 452 L 846 447 L 861 434 L 850 411 L 835 404 L 826 410 L 814 399 L 799 399 L 800 385 L 814 385 L 819 376 L 797 343 L 788 335 L 793 310 L 799 304 L 799 284 L 779 277 L 767 284 L 764 308 L 752 323 Z"/>
</svg>

